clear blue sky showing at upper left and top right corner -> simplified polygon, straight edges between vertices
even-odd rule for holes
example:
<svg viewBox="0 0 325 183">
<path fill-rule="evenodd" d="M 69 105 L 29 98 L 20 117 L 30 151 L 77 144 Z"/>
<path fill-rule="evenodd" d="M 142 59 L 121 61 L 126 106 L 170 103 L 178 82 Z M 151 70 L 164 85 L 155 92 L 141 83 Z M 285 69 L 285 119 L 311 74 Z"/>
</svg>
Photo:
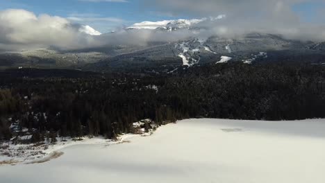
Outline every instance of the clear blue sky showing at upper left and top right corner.
<svg viewBox="0 0 325 183">
<path fill-rule="evenodd" d="M 142 0 L 109 1 L 112 0 L 0 0 L 0 10 L 22 8 L 36 15 L 66 17 L 76 23 L 88 24 L 101 32 L 108 32 L 119 26 L 130 26 L 139 21 L 190 18 L 186 15 L 172 17 L 167 13 L 157 12 L 153 7 L 144 6 Z M 322 18 L 318 18 L 325 15 L 325 3 L 322 1 L 299 3 L 292 9 L 303 21 L 324 22 Z"/>
</svg>

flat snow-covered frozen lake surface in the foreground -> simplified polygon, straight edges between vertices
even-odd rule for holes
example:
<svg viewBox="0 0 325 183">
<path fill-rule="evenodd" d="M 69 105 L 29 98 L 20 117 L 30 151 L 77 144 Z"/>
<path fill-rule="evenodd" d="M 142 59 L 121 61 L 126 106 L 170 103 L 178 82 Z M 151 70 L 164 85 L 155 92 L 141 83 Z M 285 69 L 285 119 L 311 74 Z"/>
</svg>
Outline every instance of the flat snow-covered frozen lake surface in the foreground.
<svg viewBox="0 0 325 183">
<path fill-rule="evenodd" d="M 325 119 L 189 119 L 128 140 L 68 146 L 44 164 L 0 166 L 0 182 L 325 182 Z"/>
</svg>

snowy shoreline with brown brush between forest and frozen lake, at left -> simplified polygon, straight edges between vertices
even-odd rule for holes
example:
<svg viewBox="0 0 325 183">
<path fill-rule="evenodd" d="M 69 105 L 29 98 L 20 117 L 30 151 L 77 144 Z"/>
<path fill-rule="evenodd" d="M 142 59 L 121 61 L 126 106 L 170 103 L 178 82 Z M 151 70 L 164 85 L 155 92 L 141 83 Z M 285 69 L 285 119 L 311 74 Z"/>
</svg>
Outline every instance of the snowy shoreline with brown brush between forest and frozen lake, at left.
<svg viewBox="0 0 325 183">
<path fill-rule="evenodd" d="M 54 154 L 61 153 L 60 150 L 77 145 L 103 145 L 112 146 L 120 143 L 129 143 L 128 139 L 132 137 L 147 137 L 153 134 L 153 131 L 143 134 L 121 134 L 117 140 L 105 139 L 105 137 L 82 137 L 80 139 L 72 139 L 71 137 L 57 137 L 56 143 L 44 142 L 41 144 L 13 144 L 6 142 L 0 144 L 0 166 L 17 165 L 17 164 L 34 164 L 39 162 L 48 162 Z M 3 155 L 1 155 L 3 154 Z M 63 153 L 61 154 L 63 155 Z M 47 159 L 47 160 L 44 160 Z"/>
</svg>

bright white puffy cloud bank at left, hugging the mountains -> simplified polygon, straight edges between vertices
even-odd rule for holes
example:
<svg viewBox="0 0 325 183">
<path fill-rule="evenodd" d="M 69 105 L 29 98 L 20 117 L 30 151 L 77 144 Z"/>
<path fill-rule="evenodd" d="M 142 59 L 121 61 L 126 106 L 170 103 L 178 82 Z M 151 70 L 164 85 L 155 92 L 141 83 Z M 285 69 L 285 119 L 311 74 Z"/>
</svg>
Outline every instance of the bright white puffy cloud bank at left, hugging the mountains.
<svg viewBox="0 0 325 183">
<path fill-rule="evenodd" d="M 35 15 L 20 9 L 0 11 L 0 50 L 19 51 L 56 47 L 58 49 L 85 49 L 104 45 L 144 45 L 154 40 L 156 35 L 147 30 L 125 31 L 92 36 L 82 31 L 87 28 L 74 21 L 113 21 L 122 20 L 93 15 L 78 15 L 78 18 L 63 18 L 50 15 Z M 91 30 L 88 27 L 88 30 Z M 92 30 L 94 32 L 94 30 Z"/>
</svg>

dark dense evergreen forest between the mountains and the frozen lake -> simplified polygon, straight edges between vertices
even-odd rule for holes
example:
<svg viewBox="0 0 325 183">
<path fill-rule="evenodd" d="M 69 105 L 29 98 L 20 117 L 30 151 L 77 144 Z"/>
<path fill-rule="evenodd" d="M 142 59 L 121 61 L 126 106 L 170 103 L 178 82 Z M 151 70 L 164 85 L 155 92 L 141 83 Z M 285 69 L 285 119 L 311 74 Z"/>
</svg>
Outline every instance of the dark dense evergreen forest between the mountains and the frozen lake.
<svg viewBox="0 0 325 183">
<path fill-rule="evenodd" d="M 325 67 L 308 63 L 206 64 L 173 73 L 0 72 L 0 139 L 31 141 L 132 132 L 132 123 L 187 118 L 325 117 Z M 285 121 L 283 121 L 285 123 Z M 15 124 L 15 125 L 14 125 Z"/>
</svg>

